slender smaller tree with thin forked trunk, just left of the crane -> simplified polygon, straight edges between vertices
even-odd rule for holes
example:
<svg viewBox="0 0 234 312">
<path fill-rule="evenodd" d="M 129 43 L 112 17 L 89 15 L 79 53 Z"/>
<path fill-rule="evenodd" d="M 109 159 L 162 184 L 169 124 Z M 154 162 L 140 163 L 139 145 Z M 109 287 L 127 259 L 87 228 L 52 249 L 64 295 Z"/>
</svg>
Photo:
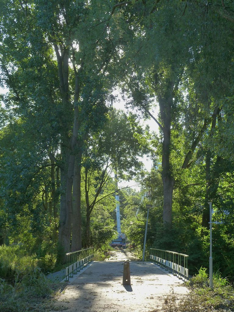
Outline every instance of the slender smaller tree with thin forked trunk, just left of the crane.
<svg viewBox="0 0 234 312">
<path fill-rule="evenodd" d="M 119 179 L 128 179 L 141 167 L 138 157 L 143 155 L 144 149 L 138 143 L 137 134 L 143 134 L 143 129 L 133 115 L 113 109 L 102 131 L 90 136 L 90 148 L 84 154 L 83 174 L 86 246 L 90 242 L 90 217 L 95 205 L 116 191 L 114 173 L 117 172 Z"/>
</svg>

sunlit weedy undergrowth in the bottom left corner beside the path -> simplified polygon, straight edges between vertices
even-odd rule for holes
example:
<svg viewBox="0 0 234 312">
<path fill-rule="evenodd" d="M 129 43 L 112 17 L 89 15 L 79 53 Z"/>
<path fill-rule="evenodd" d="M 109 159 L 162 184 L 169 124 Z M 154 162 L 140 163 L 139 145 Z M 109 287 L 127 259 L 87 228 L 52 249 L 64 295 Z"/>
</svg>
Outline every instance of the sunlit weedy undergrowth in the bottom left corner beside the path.
<svg viewBox="0 0 234 312">
<path fill-rule="evenodd" d="M 52 285 L 35 254 L 18 246 L 0 248 L 0 312 L 42 312 L 52 308 Z"/>
</svg>

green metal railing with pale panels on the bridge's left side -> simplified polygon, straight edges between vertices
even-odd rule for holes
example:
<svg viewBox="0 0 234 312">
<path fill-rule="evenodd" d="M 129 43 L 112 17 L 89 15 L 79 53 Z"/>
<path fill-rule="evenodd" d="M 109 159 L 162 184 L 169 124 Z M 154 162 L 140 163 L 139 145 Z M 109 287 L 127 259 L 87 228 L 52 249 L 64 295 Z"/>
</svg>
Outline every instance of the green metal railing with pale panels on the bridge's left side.
<svg viewBox="0 0 234 312">
<path fill-rule="evenodd" d="M 69 280 L 69 276 L 73 277 L 74 274 L 83 270 L 84 266 L 87 266 L 94 261 L 94 248 L 91 247 L 69 252 L 66 256 L 66 280 Z"/>
</svg>

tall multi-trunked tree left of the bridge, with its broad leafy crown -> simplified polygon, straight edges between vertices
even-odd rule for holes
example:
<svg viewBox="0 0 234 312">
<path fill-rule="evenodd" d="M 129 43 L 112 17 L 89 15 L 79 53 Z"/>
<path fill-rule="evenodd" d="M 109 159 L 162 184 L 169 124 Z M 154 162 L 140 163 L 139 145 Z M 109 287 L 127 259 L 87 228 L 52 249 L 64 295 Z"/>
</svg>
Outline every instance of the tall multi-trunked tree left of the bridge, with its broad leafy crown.
<svg viewBox="0 0 234 312">
<path fill-rule="evenodd" d="M 118 58 L 118 31 L 111 18 L 124 4 L 109 4 L 38 0 L 1 6 L 1 70 L 10 88 L 7 100 L 21 114 L 29 106 L 35 114 L 38 103 L 42 111 L 47 103 L 54 108 L 54 118 L 44 122 L 50 139 L 56 138 L 55 149 L 61 150 L 61 161 L 54 158 L 52 166 L 61 171 L 59 241 L 65 251 L 70 250 L 72 227 L 71 248 L 81 248 L 82 154 L 89 130 L 96 131 L 106 119 L 113 85 L 109 65 L 116 66 L 110 60 Z M 104 28 L 102 19 L 108 21 Z"/>
</svg>

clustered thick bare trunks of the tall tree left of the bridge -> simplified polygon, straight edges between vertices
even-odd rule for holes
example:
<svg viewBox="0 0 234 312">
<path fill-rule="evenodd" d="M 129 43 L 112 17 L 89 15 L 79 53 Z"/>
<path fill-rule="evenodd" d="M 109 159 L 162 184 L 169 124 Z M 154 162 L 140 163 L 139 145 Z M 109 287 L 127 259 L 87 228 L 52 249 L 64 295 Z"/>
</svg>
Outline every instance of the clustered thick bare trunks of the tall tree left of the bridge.
<svg viewBox="0 0 234 312">
<path fill-rule="evenodd" d="M 72 137 L 70 140 L 70 144 L 64 144 L 64 146 L 70 146 L 69 150 L 69 162 L 67 167 L 67 174 L 63 173 L 63 183 L 66 184 L 66 194 L 63 195 L 61 201 L 61 213 L 60 213 L 60 243 L 64 247 L 65 252 L 70 250 L 70 243 L 71 243 L 71 226 L 73 221 L 73 242 L 72 242 L 72 250 L 77 250 L 81 248 L 81 227 L 79 223 L 81 222 L 80 217 L 80 170 L 81 170 L 81 158 L 82 158 L 82 147 L 85 141 L 85 132 L 84 135 L 78 139 L 78 133 L 80 132 L 80 127 L 83 123 L 83 119 L 81 120 L 80 116 L 83 112 L 80 112 L 80 107 L 78 105 L 79 96 L 80 96 L 80 72 L 83 69 L 83 66 L 79 68 L 77 71 L 74 59 L 72 59 L 73 63 L 73 70 L 75 75 L 75 93 L 74 93 L 74 102 L 71 105 L 70 95 L 69 95 L 69 54 L 68 48 L 64 48 L 60 46 L 60 49 L 56 43 L 56 40 L 53 43 L 56 57 L 57 57 L 57 64 L 58 64 L 58 75 L 60 80 L 60 90 L 62 96 L 62 103 L 63 106 L 67 109 L 72 111 L 72 106 L 74 108 L 74 119 L 73 119 L 73 131 Z M 61 53 L 61 54 L 60 54 Z M 68 131 L 69 131 L 68 125 Z M 66 142 L 67 143 L 67 142 Z M 79 143 L 79 144 L 78 144 Z M 78 148 L 80 150 L 78 150 Z M 78 162 L 75 161 L 77 153 L 78 155 Z M 76 163 L 76 168 L 75 168 Z M 61 173 L 62 174 L 62 173 Z M 62 181 L 62 177 L 61 177 Z M 74 189 L 73 189 L 74 183 Z M 73 193 L 72 193 L 73 192 Z M 73 216 L 73 207 L 72 207 L 72 195 L 74 195 L 74 216 Z M 65 197 L 66 196 L 66 205 L 65 205 Z M 75 233 L 75 234 L 74 234 Z"/>
</svg>

